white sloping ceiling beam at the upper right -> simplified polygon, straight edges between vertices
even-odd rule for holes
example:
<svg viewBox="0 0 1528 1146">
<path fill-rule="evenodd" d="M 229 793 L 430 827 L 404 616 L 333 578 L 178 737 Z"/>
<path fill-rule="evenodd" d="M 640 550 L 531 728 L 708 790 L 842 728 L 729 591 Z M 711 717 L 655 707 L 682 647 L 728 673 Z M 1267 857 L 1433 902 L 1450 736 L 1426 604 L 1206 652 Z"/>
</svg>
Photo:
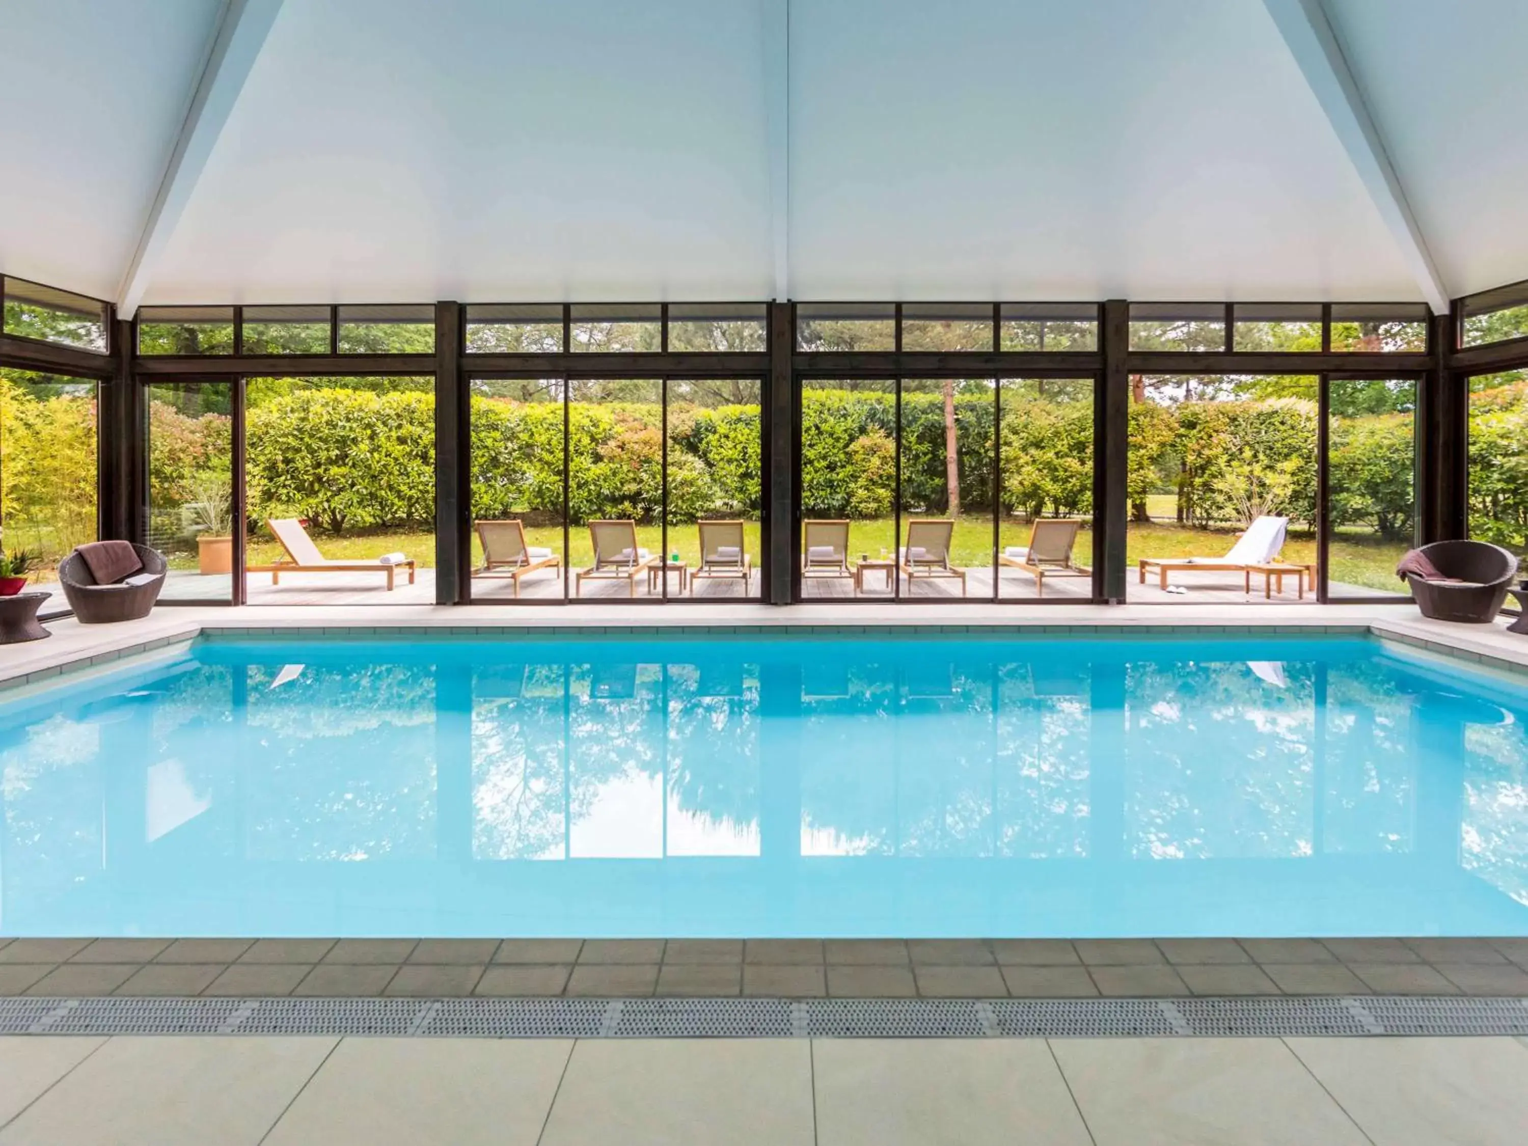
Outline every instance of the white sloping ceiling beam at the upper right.
<svg viewBox="0 0 1528 1146">
<path fill-rule="evenodd" d="M 1433 313 L 1447 313 L 1449 290 L 1406 199 L 1401 177 L 1384 147 L 1384 138 L 1369 112 L 1363 87 L 1343 50 L 1337 21 L 1323 0 L 1262 0 L 1262 3 L 1322 112 L 1326 113 L 1348 159 L 1358 171 L 1358 179 L 1363 180 L 1380 219 L 1390 231 L 1423 298 Z"/>
</svg>

